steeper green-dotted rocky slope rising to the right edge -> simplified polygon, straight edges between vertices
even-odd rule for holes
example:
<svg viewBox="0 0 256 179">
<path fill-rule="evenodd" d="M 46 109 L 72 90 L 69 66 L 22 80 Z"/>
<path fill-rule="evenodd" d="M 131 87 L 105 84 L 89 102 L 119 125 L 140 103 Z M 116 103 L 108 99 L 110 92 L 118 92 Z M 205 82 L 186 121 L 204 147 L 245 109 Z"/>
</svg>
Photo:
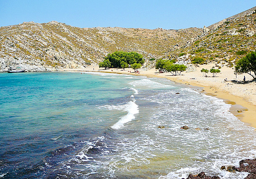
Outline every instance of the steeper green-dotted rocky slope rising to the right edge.
<svg viewBox="0 0 256 179">
<path fill-rule="evenodd" d="M 237 59 L 255 50 L 256 7 L 204 27 L 197 41 L 168 55 L 188 62 L 200 57 L 205 59 L 205 63 L 214 63 L 213 66 L 221 68 L 224 65 L 233 67 Z"/>
</svg>

